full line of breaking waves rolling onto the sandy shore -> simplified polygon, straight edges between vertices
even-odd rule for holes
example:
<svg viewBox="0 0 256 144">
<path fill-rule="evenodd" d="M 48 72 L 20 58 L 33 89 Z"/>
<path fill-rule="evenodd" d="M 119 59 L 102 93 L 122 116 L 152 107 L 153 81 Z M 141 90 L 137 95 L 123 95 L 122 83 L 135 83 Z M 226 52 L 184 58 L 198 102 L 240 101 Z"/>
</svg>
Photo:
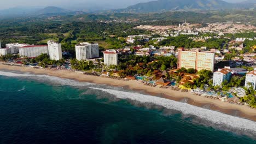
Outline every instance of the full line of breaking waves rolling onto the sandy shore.
<svg viewBox="0 0 256 144">
<path fill-rule="evenodd" d="M 0 71 L 0 75 L 8 77 L 23 77 L 26 79 L 33 79 L 43 82 L 49 82 L 53 85 L 65 85 L 74 87 L 89 88 L 88 91 L 83 94 L 96 94 L 98 97 L 106 97 L 109 95 L 109 99 L 116 101 L 119 99 L 125 99 L 131 101 L 132 104 L 137 106 L 146 106 L 149 109 L 162 109 L 167 115 L 172 113 L 182 113 L 183 117 L 191 117 L 194 123 L 203 124 L 206 126 L 232 131 L 241 135 L 248 135 L 251 137 L 256 136 L 256 122 L 248 119 L 226 115 L 221 112 L 203 109 L 189 105 L 186 102 L 178 102 L 170 99 L 152 97 L 146 94 L 125 92 L 122 87 L 112 87 L 107 85 L 97 85 L 96 83 L 78 82 L 70 79 L 62 79 L 60 77 L 48 76 L 48 75 L 35 75 L 35 74 L 18 74 L 15 71 L 5 72 Z M 24 88 L 20 89 L 21 91 Z M 94 91 L 90 91 L 94 90 Z M 100 91 L 99 91 L 100 90 Z M 105 95 L 102 92 L 106 93 Z M 110 97 L 113 96 L 113 97 Z"/>
</svg>

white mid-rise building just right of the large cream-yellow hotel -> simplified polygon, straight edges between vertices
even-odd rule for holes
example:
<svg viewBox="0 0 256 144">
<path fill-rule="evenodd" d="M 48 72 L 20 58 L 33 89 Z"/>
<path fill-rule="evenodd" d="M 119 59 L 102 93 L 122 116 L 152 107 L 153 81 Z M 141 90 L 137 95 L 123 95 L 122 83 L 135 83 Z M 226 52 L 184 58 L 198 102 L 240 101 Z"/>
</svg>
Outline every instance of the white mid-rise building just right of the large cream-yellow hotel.
<svg viewBox="0 0 256 144">
<path fill-rule="evenodd" d="M 222 82 L 227 80 L 228 82 L 232 76 L 232 70 L 230 67 L 225 67 L 224 69 L 218 69 L 213 73 L 213 86 L 222 86 Z"/>
</svg>

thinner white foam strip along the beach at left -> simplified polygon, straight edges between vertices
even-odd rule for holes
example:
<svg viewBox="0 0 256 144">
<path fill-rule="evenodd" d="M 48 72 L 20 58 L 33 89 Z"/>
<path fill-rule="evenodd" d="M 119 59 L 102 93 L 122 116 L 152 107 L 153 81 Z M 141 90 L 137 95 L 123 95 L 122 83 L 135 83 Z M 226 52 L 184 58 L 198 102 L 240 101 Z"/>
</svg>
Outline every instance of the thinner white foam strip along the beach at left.
<svg viewBox="0 0 256 144">
<path fill-rule="evenodd" d="M 8 76 L 8 77 L 25 77 L 27 79 L 34 79 L 34 80 L 39 80 L 39 81 L 49 81 L 49 82 L 57 84 L 57 85 L 66 85 L 66 86 L 83 87 L 83 86 L 96 85 L 94 83 L 78 82 L 78 81 L 74 81 L 74 80 L 62 79 L 60 77 L 48 76 L 48 75 L 18 74 L 18 73 L 6 72 L 6 71 L 0 71 L 0 75 Z"/>
</svg>

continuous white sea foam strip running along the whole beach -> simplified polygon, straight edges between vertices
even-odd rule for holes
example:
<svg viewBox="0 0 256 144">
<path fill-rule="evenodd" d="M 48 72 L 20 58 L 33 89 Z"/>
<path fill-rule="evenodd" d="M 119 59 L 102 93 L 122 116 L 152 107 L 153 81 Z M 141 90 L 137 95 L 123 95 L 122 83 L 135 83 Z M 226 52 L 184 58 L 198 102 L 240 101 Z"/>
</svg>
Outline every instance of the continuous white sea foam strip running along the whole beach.
<svg viewBox="0 0 256 144">
<path fill-rule="evenodd" d="M 40 81 L 41 80 L 49 81 L 52 83 L 56 83 L 58 85 L 78 86 L 78 87 L 89 86 L 89 88 L 91 89 L 96 89 L 102 92 L 106 92 L 108 94 L 114 95 L 116 98 L 119 98 L 119 99 L 130 99 L 134 101 L 139 101 L 139 103 L 159 105 L 159 106 L 165 107 L 166 109 L 180 111 L 183 113 L 183 115 L 196 116 L 201 119 L 200 123 L 207 121 L 207 122 L 210 122 L 210 123 L 207 123 L 208 125 L 212 125 L 212 124 L 219 125 L 218 128 L 222 128 L 224 126 L 227 128 L 231 128 L 232 130 L 244 131 L 250 136 L 256 136 L 256 122 L 253 122 L 244 118 L 226 115 L 224 113 L 217 112 L 217 111 L 203 109 L 201 107 L 189 105 L 187 103 L 181 103 L 178 101 L 173 101 L 170 99 L 164 99 L 159 97 L 152 97 L 150 95 L 145 95 L 145 94 L 124 92 L 123 88 L 114 88 L 109 86 L 104 86 L 104 88 L 100 88 L 102 87 L 102 85 L 97 85 L 95 83 L 78 82 L 74 80 L 61 79 L 59 77 L 48 76 L 48 75 L 17 74 L 12 72 L 5 72 L 5 71 L 0 71 L 0 75 L 8 76 L 8 77 L 26 77 L 26 78 L 36 79 Z M 108 88 L 112 88 L 112 89 L 108 89 Z M 102 95 L 101 93 L 96 93 L 96 94 Z M 242 134 L 245 134 L 245 133 L 242 133 Z"/>
</svg>

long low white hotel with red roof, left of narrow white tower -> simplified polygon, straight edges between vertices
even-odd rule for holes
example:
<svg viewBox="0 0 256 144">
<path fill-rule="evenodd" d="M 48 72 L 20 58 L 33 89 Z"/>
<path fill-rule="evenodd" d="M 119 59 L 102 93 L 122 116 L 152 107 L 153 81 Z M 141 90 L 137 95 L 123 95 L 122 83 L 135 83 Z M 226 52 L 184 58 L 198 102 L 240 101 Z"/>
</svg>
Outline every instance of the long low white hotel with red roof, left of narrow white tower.
<svg viewBox="0 0 256 144">
<path fill-rule="evenodd" d="M 47 45 L 30 45 L 19 47 L 19 53 L 22 57 L 37 57 L 42 53 L 48 55 L 48 46 Z"/>
</svg>

